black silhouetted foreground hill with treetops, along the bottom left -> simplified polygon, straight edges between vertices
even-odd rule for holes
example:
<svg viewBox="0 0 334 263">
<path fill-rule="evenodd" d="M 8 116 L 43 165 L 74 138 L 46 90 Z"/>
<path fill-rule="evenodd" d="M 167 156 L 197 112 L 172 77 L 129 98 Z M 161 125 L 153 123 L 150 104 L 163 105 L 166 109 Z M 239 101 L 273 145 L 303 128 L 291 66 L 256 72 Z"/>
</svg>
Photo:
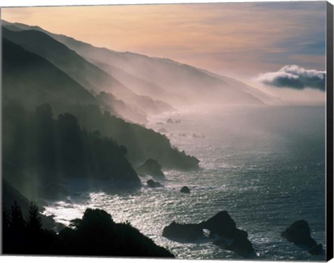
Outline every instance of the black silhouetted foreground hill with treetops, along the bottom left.
<svg viewBox="0 0 334 263">
<path fill-rule="evenodd" d="M 35 205 L 25 219 L 15 203 L 10 210 L 3 209 L 2 241 L 4 255 L 174 257 L 129 223 L 115 223 L 101 209 L 86 209 L 81 219 L 74 219 L 70 228 L 56 234 L 42 229 Z"/>
</svg>

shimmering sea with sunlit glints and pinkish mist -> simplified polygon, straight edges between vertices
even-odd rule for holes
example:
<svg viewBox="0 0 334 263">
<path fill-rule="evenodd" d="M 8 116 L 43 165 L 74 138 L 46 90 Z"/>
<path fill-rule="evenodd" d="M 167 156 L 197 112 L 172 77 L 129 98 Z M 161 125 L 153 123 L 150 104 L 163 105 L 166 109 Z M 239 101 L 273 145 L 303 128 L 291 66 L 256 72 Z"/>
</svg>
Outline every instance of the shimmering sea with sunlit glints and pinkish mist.
<svg viewBox="0 0 334 263">
<path fill-rule="evenodd" d="M 174 123 L 167 123 L 171 118 Z M 166 170 L 164 187 L 96 191 L 72 182 L 67 200 L 49 202 L 45 214 L 68 224 L 87 207 L 129 221 L 178 258 L 237 259 L 212 242 L 196 244 L 161 237 L 172 221 L 198 223 L 226 210 L 246 230 L 263 260 L 324 260 L 280 237 L 296 220 L 308 221 L 325 245 L 325 107 L 223 106 L 150 116 L 146 125 L 166 129 L 172 145 L 200 159 L 199 170 Z M 175 120 L 180 122 L 175 123 Z M 156 180 L 156 179 L 154 179 Z M 180 193 L 189 186 L 189 195 Z"/>
</svg>

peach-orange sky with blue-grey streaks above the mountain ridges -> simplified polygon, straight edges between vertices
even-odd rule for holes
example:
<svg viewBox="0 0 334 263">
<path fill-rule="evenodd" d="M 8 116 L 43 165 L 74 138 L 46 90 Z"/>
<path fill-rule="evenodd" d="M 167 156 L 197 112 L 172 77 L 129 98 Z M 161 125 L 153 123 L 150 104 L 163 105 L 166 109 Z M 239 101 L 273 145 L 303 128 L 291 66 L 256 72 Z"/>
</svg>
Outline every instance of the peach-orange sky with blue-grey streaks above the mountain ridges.
<svg viewBox="0 0 334 263">
<path fill-rule="evenodd" d="M 261 81 L 264 74 L 287 65 L 326 70 L 325 1 L 3 8 L 1 18 L 97 47 L 170 58 L 278 95 L 287 90 Z M 321 88 L 302 90 L 324 97 Z"/>
</svg>

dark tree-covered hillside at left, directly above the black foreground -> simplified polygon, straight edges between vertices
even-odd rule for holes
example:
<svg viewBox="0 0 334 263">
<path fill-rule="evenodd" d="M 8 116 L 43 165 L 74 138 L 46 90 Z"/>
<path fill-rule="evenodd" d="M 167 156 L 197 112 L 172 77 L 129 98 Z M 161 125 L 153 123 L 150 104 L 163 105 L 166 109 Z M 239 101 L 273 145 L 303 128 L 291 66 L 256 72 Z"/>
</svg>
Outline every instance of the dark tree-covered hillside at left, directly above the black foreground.
<svg viewBox="0 0 334 263">
<path fill-rule="evenodd" d="M 140 185 L 126 157 L 127 148 L 87 131 L 70 113 L 54 118 L 50 104 L 26 111 L 18 104 L 3 107 L 4 178 L 29 198 L 66 192 L 66 179 L 106 180 Z M 15 167 L 15 173 L 10 172 Z M 9 168 L 9 169 L 8 169 Z M 19 176 L 21 175 L 21 176 Z"/>
</svg>

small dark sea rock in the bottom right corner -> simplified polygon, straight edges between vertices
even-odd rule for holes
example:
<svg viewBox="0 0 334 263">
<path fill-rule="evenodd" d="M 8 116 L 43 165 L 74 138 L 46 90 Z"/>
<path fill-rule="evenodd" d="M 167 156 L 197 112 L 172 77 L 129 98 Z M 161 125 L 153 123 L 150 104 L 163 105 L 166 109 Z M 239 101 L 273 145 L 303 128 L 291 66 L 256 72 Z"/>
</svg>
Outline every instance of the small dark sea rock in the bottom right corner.
<svg viewBox="0 0 334 263">
<path fill-rule="evenodd" d="M 304 220 L 294 222 L 289 228 L 282 232 L 281 236 L 297 246 L 308 248 L 308 252 L 312 255 L 322 253 L 322 245 L 317 244 L 315 239 L 312 239 L 310 226 L 308 222 Z"/>
</svg>

